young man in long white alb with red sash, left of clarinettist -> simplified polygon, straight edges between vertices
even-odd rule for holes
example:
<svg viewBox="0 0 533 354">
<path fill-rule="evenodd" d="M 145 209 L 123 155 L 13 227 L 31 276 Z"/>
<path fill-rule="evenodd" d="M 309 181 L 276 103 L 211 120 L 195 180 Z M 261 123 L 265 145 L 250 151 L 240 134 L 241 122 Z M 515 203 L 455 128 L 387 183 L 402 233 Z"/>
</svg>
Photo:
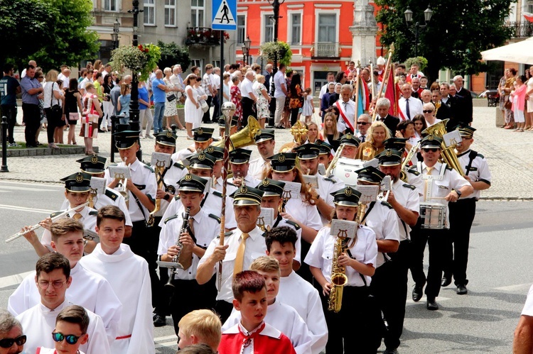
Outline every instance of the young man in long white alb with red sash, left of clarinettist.
<svg viewBox="0 0 533 354">
<path fill-rule="evenodd" d="M 112 353 L 155 353 L 150 276 L 146 260 L 131 252 L 124 238 L 124 213 L 104 206 L 97 216 L 100 243 L 81 264 L 103 275 L 122 302 L 122 316 Z M 98 353 L 99 354 L 99 353 Z"/>
</svg>

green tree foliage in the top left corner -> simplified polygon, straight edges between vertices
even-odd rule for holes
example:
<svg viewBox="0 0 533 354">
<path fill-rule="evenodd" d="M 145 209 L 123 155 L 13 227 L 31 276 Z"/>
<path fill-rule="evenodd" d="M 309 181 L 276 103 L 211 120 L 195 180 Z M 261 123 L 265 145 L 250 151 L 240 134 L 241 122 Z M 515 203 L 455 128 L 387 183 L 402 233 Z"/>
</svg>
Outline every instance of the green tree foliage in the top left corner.
<svg viewBox="0 0 533 354">
<path fill-rule="evenodd" d="M 24 66 L 33 59 L 47 71 L 93 57 L 91 11 L 91 0 L 0 0 L 0 60 Z"/>
</svg>

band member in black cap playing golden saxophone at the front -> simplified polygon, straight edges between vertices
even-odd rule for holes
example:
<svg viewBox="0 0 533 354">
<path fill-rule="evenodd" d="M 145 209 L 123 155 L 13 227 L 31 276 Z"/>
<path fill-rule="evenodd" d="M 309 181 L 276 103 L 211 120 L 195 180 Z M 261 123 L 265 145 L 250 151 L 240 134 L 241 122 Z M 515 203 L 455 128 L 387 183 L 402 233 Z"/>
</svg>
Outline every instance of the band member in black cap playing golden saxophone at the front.
<svg viewBox="0 0 533 354">
<path fill-rule="evenodd" d="M 345 187 L 334 192 L 335 214 L 333 219 L 356 221 L 360 192 Z M 311 268 L 321 294 L 325 321 L 328 323 L 326 353 L 375 353 L 371 341 L 374 326 L 370 326 L 371 311 L 368 294 L 371 277 L 375 272 L 377 243 L 374 231 L 367 226 L 356 228 L 355 238 L 347 238 L 344 247 L 337 247 L 338 236 L 330 235 L 330 227 L 321 228 L 311 245 L 304 262 Z M 333 264 L 336 259 L 337 264 Z M 331 283 L 332 272 L 345 267 L 348 282 L 343 287 L 340 311 L 328 310 L 330 292 L 335 291 Z M 353 319 L 358 319 L 353 321 Z M 346 326 L 345 323 L 350 323 Z M 372 324 L 374 321 L 372 321 Z"/>
</svg>

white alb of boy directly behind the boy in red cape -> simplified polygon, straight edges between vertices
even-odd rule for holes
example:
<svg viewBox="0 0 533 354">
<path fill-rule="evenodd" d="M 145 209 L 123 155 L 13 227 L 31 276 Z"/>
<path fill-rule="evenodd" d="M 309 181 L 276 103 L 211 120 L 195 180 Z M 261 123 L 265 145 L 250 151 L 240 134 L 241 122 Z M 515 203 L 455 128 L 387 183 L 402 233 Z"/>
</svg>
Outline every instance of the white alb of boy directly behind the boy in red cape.
<svg viewBox="0 0 533 354">
<path fill-rule="evenodd" d="M 240 323 L 240 321 L 241 313 L 234 307 L 230 317 L 222 324 L 222 332 L 232 328 L 232 326 Z M 309 328 L 307 328 L 306 323 L 293 307 L 283 304 L 279 299 L 276 299 L 274 304 L 269 305 L 266 309 L 264 321 L 289 337 L 296 353 L 311 353 L 312 339 L 309 334 Z"/>
</svg>

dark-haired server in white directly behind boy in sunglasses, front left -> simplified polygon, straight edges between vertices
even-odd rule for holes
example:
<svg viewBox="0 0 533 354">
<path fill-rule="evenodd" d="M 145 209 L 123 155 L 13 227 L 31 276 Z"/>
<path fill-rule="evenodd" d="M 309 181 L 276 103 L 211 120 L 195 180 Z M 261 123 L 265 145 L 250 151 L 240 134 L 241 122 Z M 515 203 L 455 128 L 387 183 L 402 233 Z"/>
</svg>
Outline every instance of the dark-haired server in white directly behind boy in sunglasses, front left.
<svg viewBox="0 0 533 354">
<path fill-rule="evenodd" d="M 65 292 L 72 283 L 72 277 L 70 277 L 70 264 L 64 255 L 47 253 L 39 258 L 36 264 L 35 282 L 41 294 L 41 302 L 16 316 L 28 336 L 25 345 L 27 353 L 36 353 L 37 348 L 41 346 L 53 348 L 51 333 L 55 328 L 55 319 L 65 307 L 74 305 L 65 297 Z M 118 353 L 109 349 L 102 318 L 87 309 L 85 311 L 89 316 L 87 328 L 89 341 L 81 345 L 80 350 L 84 353 Z"/>
</svg>

